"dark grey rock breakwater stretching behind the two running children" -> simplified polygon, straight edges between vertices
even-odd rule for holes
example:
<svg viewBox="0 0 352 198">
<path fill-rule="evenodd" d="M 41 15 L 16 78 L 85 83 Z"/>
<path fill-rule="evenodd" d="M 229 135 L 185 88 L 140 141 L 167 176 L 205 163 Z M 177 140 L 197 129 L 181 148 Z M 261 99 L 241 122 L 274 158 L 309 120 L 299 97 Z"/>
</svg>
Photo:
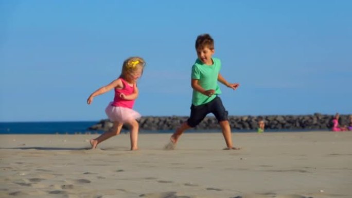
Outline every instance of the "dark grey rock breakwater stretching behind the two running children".
<svg viewBox="0 0 352 198">
<path fill-rule="evenodd" d="M 266 129 L 272 130 L 328 130 L 332 127 L 334 115 L 267 115 L 267 116 L 228 116 L 233 130 L 256 130 L 258 120 L 265 121 Z M 140 130 L 174 130 L 186 121 L 188 116 L 144 116 L 139 120 Z M 340 115 L 339 123 L 348 125 L 348 115 Z M 100 120 L 88 130 L 108 131 L 113 123 L 108 119 Z M 127 129 L 126 126 L 124 126 Z M 220 129 L 213 116 L 206 117 L 195 129 Z"/>
</svg>

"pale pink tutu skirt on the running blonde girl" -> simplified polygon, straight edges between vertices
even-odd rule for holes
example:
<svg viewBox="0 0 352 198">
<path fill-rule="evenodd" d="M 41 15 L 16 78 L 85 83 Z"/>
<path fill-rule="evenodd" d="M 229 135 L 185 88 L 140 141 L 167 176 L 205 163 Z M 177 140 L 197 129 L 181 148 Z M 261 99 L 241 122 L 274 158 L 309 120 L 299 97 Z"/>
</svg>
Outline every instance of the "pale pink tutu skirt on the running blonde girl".
<svg viewBox="0 0 352 198">
<path fill-rule="evenodd" d="M 140 118 L 140 114 L 130 108 L 113 106 L 111 104 L 112 102 L 110 102 L 107 108 L 105 109 L 105 113 L 112 122 L 117 121 L 119 123 L 125 123 L 131 119 Z"/>
</svg>

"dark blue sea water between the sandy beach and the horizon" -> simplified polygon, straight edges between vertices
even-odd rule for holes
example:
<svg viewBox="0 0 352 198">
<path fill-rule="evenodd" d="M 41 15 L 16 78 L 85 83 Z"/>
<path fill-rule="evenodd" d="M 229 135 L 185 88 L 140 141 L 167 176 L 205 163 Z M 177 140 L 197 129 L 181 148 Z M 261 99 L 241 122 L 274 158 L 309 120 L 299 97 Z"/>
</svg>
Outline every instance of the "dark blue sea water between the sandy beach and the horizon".
<svg viewBox="0 0 352 198">
<path fill-rule="evenodd" d="M 72 121 L 72 122 L 0 122 L 0 134 L 101 134 L 103 131 L 88 130 L 98 121 Z M 266 130 L 265 132 L 305 132 L 316 130 Z M 321 130 L 320 130 L 321 131 Z M 122 133 L 128 131 L 123 130 Z M 173 130 L 156 130 L 139 133 L 173 133 Z M 187 130 L 187 133 L 219 132 L 221 130 Z M 235 133 L 255 133 L 255 130 L 236 130 Z"/>
</svg>

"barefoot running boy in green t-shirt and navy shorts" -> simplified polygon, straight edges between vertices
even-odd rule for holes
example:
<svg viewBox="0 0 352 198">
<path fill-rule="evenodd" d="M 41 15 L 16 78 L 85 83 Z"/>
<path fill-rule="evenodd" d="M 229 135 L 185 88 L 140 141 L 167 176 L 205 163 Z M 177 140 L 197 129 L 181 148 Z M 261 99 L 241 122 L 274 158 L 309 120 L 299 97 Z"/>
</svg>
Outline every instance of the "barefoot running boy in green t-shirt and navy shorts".
<svg viewBox="0 0 352 198">
<path fill-rule="evenodd" d="M 170 138 L 171 143 L 174 147 L 184 131 L 196 127 L 207 114 L 213 113 L 222 129 L 222 134 L 227 146 L 225 149 L 237 150 L 239 148 L 235 148 L 232 145 L 231 128 L 228 123 L 227 111 L 220 97 L 218 97 L 221 91 L 217 81 L 220 81 L 225 86 L 234 90 L 239 84 L 228 83 L 219 73 L 221 62 L 217 58 L 212 58 L 215 52 L 214 40 L 209 34 L 198 36 L 196 40 L 196 50 L 198 59 L 192 66 L 191 74 L 193 94 L 190 117 L 172 134 Z"/>
</svg>

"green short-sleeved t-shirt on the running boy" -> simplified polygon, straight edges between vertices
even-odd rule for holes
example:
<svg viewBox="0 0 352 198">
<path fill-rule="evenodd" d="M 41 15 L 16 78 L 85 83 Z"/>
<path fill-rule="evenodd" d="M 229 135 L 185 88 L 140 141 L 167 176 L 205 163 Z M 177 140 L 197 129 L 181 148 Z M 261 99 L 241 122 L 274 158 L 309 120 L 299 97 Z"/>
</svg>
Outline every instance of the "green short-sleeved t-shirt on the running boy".
<svg viewBox="0 0 352 198">
<path fill-rule="evenodd" d="M 213 59 L 213 65 L 206 65 L 201 60 L 197 59 L 196 63 L 192 66 L 192 79 L 197 79 L 198 83 L 205 90 L 214 89 L 215 94 L 213 96 L 205 96 L 200 92 L 193 89 L 192 104 L 201 105 L 212 101 L 216 95 L 221 94 L 220 87 L 218 85 L 218 75 L 221 69 L 221 62 L 217 58 Z"/>
</svg>

